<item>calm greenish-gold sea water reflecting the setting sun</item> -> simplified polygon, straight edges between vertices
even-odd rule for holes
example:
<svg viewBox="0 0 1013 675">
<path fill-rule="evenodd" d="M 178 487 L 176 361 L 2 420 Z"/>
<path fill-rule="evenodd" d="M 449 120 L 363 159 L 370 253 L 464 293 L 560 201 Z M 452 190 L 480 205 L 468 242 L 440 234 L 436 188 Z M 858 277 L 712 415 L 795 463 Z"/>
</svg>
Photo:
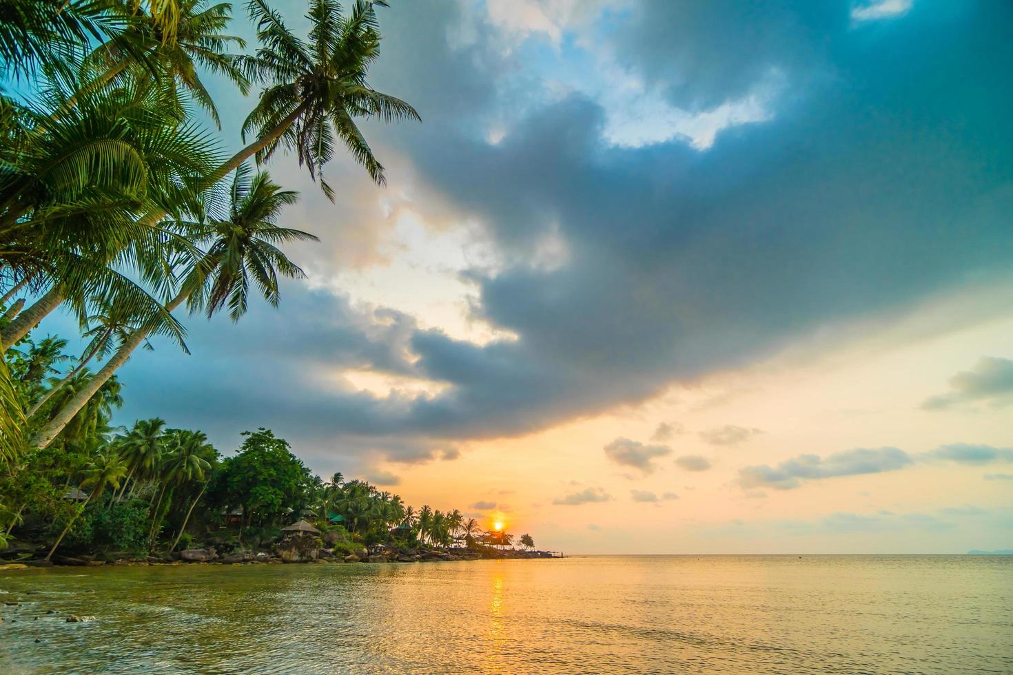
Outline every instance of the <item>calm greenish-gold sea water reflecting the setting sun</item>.
<svg viewBox="0 0 1013 675">
<path fill-rule="evenodd" d="M 2 673 L 1013 672 L 1001 557 L 65 568 L 0 590 L 22 601 Z"/>
</svg>

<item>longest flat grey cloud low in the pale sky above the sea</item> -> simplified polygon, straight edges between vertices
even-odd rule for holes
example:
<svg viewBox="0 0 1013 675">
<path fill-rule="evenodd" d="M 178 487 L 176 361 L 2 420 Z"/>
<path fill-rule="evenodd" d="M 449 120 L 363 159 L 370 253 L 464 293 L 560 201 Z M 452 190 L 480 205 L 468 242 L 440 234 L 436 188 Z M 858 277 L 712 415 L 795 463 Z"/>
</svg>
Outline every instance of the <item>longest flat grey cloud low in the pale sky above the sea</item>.
<svg viewBox="0 0 1013 675">
<path fill-rule="evenodd" d="M 855 448 L 829 454 L 826 458 L 799 454 L 775 468 L 757 465 L 741 469 L 738 483 L 746 489 L 791 490 L 806 481 L 897 471 L 913 461 L 907 452 L 895 447 Z"/>
</svg>

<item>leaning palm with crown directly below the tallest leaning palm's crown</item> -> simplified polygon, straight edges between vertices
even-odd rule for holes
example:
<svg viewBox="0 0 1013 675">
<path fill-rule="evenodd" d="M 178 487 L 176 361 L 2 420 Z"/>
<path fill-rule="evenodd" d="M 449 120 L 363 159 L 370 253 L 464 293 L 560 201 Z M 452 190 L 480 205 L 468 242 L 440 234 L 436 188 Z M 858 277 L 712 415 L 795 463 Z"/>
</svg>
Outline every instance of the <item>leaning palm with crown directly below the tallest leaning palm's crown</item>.
<svg viewBox="0 0 1013 675">
<path fill-rule="evenodd" d="M 297 192 L 283 190 L 266 173 L 252 178 L 246 167 L 236 171 L 232 181 L 231 206 L 219 215 L 214 208 L 202 224 L 189 224 L 196 243 L 206 243 L 207 250 L 192 260 L 180 290 L 165 309 L 169 312 L 186 303 L 191 311 L 204 308 L 210 317 L 226 305 L 233 321 L 247 308 L 251 284 L 270 305 L 280 299 L 278 276 L 302 278 L 303 270 L 276 246 L 291 241 L 317 241 L 301 230 L 276 225 L 282 209 L 295 203 Z M 219 218 L 215 218 L 220 216 Z M 81 389 L 35 435 L 32 443 L 46 447 L 70 419 L 98 391 L 101 383 L 112 376 L 127 362 L 131 353 L 147 337 L 145 328 L 135 330 L 90 382 Z"/>
</svg>

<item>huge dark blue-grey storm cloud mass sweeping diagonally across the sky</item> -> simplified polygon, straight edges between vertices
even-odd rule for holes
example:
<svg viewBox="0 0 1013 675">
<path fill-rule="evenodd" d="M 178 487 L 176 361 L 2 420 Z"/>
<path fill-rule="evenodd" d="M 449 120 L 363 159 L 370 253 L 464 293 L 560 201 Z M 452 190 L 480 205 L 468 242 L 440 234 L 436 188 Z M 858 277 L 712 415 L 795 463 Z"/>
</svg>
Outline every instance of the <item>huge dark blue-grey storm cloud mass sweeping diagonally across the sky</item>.
<svg viewBox="0 0 1013 675">
<path fill-rule="evenodd" d="M 771 120 L 725 130 L 703 152 L 619 148 L 603 140 L 597 102 L 542 102 L 533 87 L 530 112 L 508 115 L 492 146 L 484 131 L 513 110 L 504 99 L 517 92 L 498 83 L 516 57 L 487 27 L 455 36 L 453 2 L 381 15 L 373 83 L 425 122 L 370 132 L 407 158 L 439 208 L 484 224 L 503 264 L 467 274 L 473 314 L 517 339 L 473 344 L 293 289 L 280 312 L 192 325 L 193 357 L 164 346 L 138 354 L 123 372 L 124 417 L 161 414 L 220 438 L 272 426 L 321 461 L 426 460 L 456 440 L 643 401 L 826 322 L 904 312 L 1010 270 L 1007 3 L 926 0 L 860 26 L 847 3 L 786 3 L 762 17 L 743 3 L 678 16 L 669 12 L 686 10 L 675 3 L 655 5 L 620 31 L 623 60 L 650 70 L 673 100 L 702 106 L 776 69 Z M 651 11 L 653 25 L 637 18 Z M 664 38 L 655 26 L 675 32 Z M 532 264 L 548 233 L 565 256 Z M 447 387 L 378 397 L 342 385 L 343 368 Z M 579 493 L 559 503 L 571 498 Z"/>
</svg>

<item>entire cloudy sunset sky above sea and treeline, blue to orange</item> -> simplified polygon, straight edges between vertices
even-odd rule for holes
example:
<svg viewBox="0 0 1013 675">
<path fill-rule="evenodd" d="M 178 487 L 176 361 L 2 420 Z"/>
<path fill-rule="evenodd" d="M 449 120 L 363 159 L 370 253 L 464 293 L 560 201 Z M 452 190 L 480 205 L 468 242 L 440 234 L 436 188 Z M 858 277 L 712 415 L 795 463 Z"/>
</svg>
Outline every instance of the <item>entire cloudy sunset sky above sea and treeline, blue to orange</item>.
<svg viewBox="0 0 1013 675">
<path fill-rule="evenodd" d="M 391 5 L 387 185 L 272 161 L 308 278 L 139 351 L 118 422 L 567 554 L 1013 549 L 1013 5 Z"/>
</svg>

